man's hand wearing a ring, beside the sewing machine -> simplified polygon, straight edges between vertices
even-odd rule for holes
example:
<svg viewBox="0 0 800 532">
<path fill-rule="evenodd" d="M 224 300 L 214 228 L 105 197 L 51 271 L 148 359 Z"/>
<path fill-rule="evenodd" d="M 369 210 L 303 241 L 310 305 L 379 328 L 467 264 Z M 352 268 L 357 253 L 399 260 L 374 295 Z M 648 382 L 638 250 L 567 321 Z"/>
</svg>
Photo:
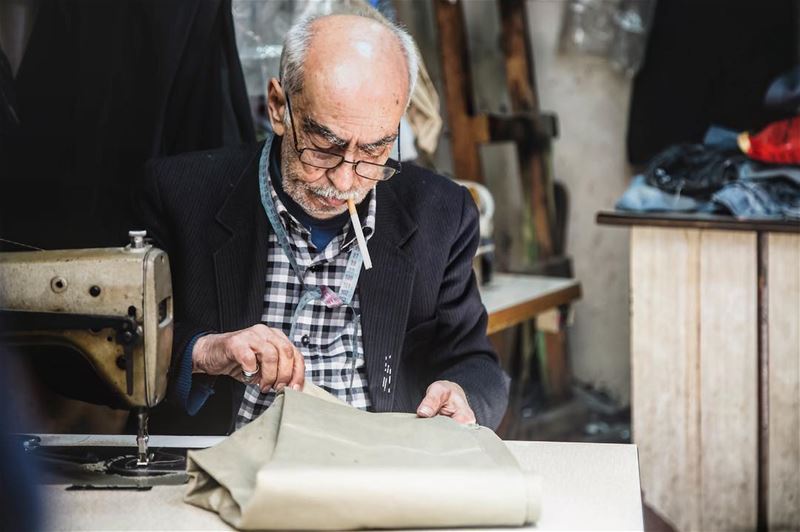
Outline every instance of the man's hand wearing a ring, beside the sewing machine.
<svg viewBox="0 0 800 532">
<path fill-rule="evenodd" d="M 243 370 L 259 372 L 252 384 L 262 392 L 285 386 L 300 390 L 305 381 L 303 354 L 283 332 L 258 323 L 241 331 L 201 336 L 192 350 L 192 371 L 230 375 L 245 382 Z"/>
</svg>

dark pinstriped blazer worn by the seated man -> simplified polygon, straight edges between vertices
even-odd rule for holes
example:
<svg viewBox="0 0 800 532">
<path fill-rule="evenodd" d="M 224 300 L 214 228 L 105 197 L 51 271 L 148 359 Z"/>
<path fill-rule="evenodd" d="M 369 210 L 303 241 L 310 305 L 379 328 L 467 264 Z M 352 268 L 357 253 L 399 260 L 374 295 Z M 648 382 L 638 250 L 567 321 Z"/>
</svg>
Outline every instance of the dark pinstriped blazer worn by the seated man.
<svg viewBox="0 0 800 532">
<path fill-rule="evenodd" d="M 170 257 L 173 376 L 197 333 L 243 329 L 261 319 L 272 230 L 258 192 L 261 147 L 148 165 L 141 212 L 150 236 Z M 496 427 L 507 405 L 508 378 L 486 338 L 486 311 L 472 274 L 475 204 L 465 188 L 413 165 L 403 165 L 375 190 L 373 268 L 361 272 L 358 285 L 373 409 L 414 412 L 427 386 L 447 379 L 464 388 L 479 423 Z M 169 406 L 162 410 L 170 412 L 156 409 L 151 431 L 228 431 L 242 385 L 221 377 L 215 389 L 194 419 Z"/>
</svg>

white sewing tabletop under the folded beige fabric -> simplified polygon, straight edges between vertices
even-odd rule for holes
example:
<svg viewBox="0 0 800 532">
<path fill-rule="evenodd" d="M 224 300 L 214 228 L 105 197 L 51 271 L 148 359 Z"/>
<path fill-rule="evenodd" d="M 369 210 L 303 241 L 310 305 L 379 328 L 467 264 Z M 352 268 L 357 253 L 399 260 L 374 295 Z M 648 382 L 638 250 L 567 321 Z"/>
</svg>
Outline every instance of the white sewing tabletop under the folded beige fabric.
<svg viewBox="0 0 800 532">
<path fill-rule="evenodd" d="M 129 445 L 132 437 L 114 438 Z M 180 438 L 169 443 L 153 438 L 154 445 L 181 445 Z M 543 478 L 542 518 L 531 530 L 643 529 L 635 445 L 516 441 L 507 445 L 524 469 Z M 64 488 L 42 487 L 46 530 L 230 530 L 215 513 L 184 503 L 186 486 L 156 486 L 149 491 Z"/>
</svg>

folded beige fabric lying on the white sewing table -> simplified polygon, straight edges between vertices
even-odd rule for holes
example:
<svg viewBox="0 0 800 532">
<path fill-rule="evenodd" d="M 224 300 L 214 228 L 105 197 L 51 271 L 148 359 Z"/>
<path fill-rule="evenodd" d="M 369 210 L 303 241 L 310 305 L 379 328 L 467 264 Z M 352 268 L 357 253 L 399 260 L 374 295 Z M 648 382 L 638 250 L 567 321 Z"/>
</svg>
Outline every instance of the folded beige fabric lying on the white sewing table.
<svg viewBox="0 0 800 532">
<path fill-rule="evenodd" d="M 240 529 L 521 526 L 539 478 L 485 427 L 375 414 L 306 384 L 220 444 L 190 451 L 185 501 Z M 327 397 L 326 397 L 327 396 Z"/>
</svg>

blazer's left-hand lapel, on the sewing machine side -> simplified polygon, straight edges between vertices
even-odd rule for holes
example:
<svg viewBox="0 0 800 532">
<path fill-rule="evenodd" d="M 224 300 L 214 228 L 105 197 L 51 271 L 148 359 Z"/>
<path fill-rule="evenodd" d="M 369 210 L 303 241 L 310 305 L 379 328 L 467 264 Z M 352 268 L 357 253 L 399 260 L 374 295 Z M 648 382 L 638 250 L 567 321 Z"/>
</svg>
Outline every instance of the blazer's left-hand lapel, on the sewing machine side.
<svg viewBox="0 0 800 532">
<path fill-rule="evenodd" d="M 258 192 L 262 146 L 259 144 L 238 180 L 232 180 L 233 190 L 217 213 L 220 234 L 214 269 L 221 331 L 249 327 L 261 319 L 263 310 L 270 229 Z"/>
</svg>

